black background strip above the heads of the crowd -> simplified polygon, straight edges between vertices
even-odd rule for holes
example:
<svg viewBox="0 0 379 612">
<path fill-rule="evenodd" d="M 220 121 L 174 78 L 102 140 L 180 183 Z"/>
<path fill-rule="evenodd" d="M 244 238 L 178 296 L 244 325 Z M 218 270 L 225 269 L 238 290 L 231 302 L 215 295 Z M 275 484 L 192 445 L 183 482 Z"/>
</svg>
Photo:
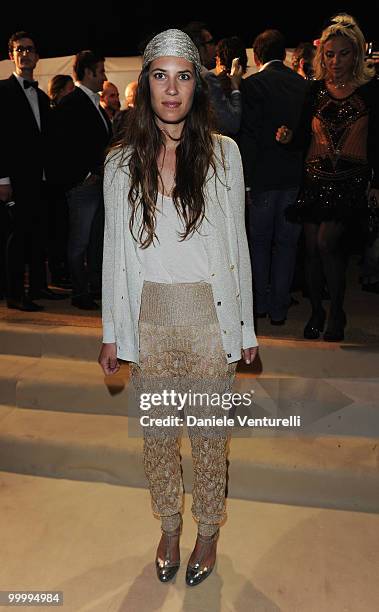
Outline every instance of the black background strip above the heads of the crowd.
<svg viewBox="0 0 379 612">
<path fill-rule="evenodd" d="M 12 2 L 12 0 L 11 0 Z M 184 26 L 190 20 L 204 21 L 216 40 L 239 35 L 247 47 L 266 28 L 277 28 L 286 36 L 287 46 L 313 40 L 324 22 L 337 11 L 358 20 L 366 40 L 379 39 L 376 2 L 312 2 L 278 6 L 264 2 L 164 2 L 159 0 L 102 0 L 99 4 L 77 0 L 61 2 L 13 2 L 1 9 L 0 59 L 7 59 L 7 41 L 17 30 L 30 31 L 40 57 L 72 55 L 81 49 L 97 49 L 105 56 L 138 54 L 138 43 L 169 27 Z"/>
</svg>

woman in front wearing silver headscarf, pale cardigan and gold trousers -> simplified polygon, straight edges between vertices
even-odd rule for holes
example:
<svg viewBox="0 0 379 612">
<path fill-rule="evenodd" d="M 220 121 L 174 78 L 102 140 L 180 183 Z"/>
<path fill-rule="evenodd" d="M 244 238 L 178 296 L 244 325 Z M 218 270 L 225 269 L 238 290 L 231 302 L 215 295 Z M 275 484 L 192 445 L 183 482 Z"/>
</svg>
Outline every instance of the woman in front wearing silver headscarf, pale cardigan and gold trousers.
<svg viewBox="0 0 379 612">
<path fill-rule="evenodd" d="M 189 586 L 212 571 L 225 518 L 228 430 L 214 418 L 225 416 L 222 396 L 237 361 L 252 363 L 257 351 L 241 159 L 232 140 L 211 133 L 200 71 L 198 51 L 180 30 L 146 47 L 136 107 L 105 167 L 99 357 L 105 374 L 118 371 L 119 358 L 130 361 L 140 399 L 162 399 L 141 419 L 145 472 L 162 524 L 161 582 L 180 565 L 179 440 L 192 418 L 198 536 Z M 188 394 L 184 410 L 173 392 Z M 195 393 L 203 394 L 199 404 L 189 401 Z"/>
</svg>

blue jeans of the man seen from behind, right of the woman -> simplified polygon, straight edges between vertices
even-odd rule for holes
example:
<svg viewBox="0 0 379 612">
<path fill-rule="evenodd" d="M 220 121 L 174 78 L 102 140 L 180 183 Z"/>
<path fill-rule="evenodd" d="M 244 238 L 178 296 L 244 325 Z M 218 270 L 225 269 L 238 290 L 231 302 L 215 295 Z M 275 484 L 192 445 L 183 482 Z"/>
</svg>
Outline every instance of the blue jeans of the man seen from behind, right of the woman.
<svg viewBox="0 0 379 612">
<path fill-rule="evenodd" d="M 248 236 L 253 269 L 256 312 L 272 319 L 287 317 L 300 225 L 285 218 L 297 188 L 252 193 L 248 208 Z"/>
</svg>

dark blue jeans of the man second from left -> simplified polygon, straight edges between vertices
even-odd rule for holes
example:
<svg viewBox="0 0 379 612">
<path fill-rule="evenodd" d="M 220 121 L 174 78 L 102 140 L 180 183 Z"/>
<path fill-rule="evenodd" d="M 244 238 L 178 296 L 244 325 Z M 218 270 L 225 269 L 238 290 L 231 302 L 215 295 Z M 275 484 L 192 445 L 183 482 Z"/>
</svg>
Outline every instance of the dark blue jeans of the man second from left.
<svg viewBox="0 0 379 612">
<path fill-rule="evenodd" d="M 72 296 L 87 296 L 101 289 L 103 257 L 103 183 L 84 182 L 67 192 L 69 210 L 68 262 Z"/>
</svg>

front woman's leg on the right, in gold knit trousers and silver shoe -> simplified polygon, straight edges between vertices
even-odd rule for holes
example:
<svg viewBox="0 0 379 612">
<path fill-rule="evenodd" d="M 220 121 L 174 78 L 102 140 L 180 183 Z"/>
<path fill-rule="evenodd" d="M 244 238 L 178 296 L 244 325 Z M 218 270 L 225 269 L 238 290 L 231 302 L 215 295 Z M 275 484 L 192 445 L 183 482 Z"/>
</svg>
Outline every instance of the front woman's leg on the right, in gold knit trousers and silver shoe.
<svg viewBox="0 0 379 612">
<path fill-rule="evenodd" d="M 194 399 L 186 406 L 186 415 L 201 419 L 199 425 L 188 427 L 194 472 L 191 509 L 198 522 L 198 536 L 188 562 L 186 582 L 195 586 L 214 567 L 218 532 L 226 516 L 230 436 L 226 427 L 212 425 L 212 419 L 228 416 L 222 407 L 222 398 L 231 391 L 236 363 L 228 364 L 226 361 L 218 322 L 199 327 L 196 335 L 188 328 L 187 337 L 192 356 L 186 384 Z M 195 398 L 199 399 L 195 402 Z M 215 398 L 218 398 L 217 402 Z"/>
</svg>

